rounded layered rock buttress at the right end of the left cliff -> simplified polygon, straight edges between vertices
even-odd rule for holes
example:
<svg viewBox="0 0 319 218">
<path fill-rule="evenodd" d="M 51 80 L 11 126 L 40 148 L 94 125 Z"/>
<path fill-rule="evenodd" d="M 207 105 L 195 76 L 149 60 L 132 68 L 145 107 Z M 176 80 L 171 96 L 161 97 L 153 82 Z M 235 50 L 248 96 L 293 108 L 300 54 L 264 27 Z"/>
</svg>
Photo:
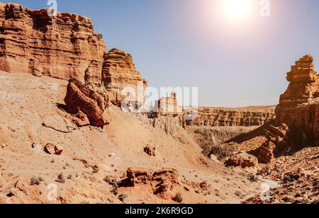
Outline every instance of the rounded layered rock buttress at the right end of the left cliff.
<svg viewBox="0 0 319 218">
<path fill-rule="evenodd" d="M 114 105 L 121 106 L 124 100 L 135 105 L 144 102 L 147 81 L 143 80 L 140 72 L 136 70 L 132 56 L 122 50 L 113 49 L 105 54 L 102 82 Z"/>
</svg>

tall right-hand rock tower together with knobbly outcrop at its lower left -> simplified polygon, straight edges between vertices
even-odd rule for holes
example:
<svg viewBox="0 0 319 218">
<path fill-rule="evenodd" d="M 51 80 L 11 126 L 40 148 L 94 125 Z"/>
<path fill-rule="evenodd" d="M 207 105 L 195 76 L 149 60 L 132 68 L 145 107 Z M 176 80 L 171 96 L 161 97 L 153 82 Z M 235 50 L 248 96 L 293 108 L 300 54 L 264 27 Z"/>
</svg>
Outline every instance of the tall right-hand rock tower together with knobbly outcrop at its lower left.
<svg viewBox="0 0 319 218">
<path fill-rule="evenodd" d="M 267 127 L 268 140 L 259 149 L 258 158 L 264 163 L 276 154 L 319 144 L 319 81 L 313 57 L 307 54 L 296 61 L 286 79 L 289 87 L 275 110 L 277 127 Z"/>
</svg>

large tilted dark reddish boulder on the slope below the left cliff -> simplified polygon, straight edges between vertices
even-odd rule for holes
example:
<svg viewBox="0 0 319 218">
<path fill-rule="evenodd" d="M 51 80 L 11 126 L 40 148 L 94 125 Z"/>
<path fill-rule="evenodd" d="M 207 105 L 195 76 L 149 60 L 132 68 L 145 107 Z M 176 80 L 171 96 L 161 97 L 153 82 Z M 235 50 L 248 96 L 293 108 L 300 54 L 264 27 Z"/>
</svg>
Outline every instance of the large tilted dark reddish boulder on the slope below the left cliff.
<svg viewBox="0 0 319 218">
<path fill-rule="evenodd" d="M 70 79 L 67 86 L 65 104 L 69 113 L 84 113 L 91 125 L 101 127 L 108 124 L 104 111 L 108 106 L 108 98 L 103 91 L 95 91 L 90 86 L 84 86 L 77 79 Z"/>
</svg>

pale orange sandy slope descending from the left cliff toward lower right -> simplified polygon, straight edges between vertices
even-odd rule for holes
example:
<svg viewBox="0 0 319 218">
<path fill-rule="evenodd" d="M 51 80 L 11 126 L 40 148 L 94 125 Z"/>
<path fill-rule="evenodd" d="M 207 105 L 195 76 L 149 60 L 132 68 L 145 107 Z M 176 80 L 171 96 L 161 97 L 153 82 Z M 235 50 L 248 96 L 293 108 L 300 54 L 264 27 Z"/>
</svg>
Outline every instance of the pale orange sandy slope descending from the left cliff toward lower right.
<svg viewBox="0 0 319 218">
<path fill-rule="evenodd" d="M 185 203 L 237 203 L 259 193 L 259 184 L 250 182 L 247 173 L 203 156 L 185 130 L 177 141 L 116 107 L 109 110 L 112 122 L 103 130 L 79 129 L 57 108 L 67 81 L 0 72 L 0 83 L 0 202 L 121 203 L 121 194 L 127 195 L 126 203 L 173 202 L 145 187 L 120 188 L 113 195 L 103 178 L 125 177 L 128 167 L 177 169 L 181 185 L 176 191 Z M 51 127 L 44 127 L 44 121 Z M 62 155 L 45 153 L 47 143 L 62 146 Z M 144 153 L 147 144 L 157 145 L 157 156 Z M 65 183 L 55 181 L 60 173 Z M 42 178 L 40 185 L 30 184 L 33 176 Z M 205 180 L 209 188 L 202 190 L 198 184 Z M 56 202 L 47 199 L 50 184 L 57 185 Z"/>
</svg>

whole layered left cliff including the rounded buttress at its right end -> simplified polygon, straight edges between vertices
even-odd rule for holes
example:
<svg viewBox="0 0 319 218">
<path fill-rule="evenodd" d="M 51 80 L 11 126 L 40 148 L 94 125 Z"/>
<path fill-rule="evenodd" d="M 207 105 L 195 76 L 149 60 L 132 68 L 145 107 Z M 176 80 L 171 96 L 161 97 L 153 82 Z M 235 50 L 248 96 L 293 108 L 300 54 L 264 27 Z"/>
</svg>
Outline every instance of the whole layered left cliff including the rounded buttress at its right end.
<svg viewBox="0 0 319 218">
<path fill-rule="evenodd" d="M 102 35 L 94 33 L 89 18 L 73 13 L 48 16 L 47 10 L 0 3 L 0 70 L 105 86 L 115 105 L 127 97 L 122 96 L 123 88 L 130 88 L 135 94 L 128 101 L 144 102 L 147 81 L 135 69 L 130 54 L 106 51 Z"/>
</svg>

